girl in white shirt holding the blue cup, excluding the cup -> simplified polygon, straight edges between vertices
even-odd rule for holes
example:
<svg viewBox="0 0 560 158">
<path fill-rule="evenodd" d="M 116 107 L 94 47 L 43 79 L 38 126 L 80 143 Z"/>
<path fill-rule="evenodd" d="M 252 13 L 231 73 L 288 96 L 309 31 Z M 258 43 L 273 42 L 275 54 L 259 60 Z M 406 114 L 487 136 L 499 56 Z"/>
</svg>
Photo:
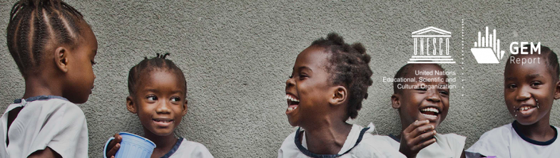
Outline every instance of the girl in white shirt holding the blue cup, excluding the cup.
<svg viewBox="0 0 560 158">
<path fill-rule="evenodd" d="M 187 114 L 187 82 L 183 71 L 166 59 L 168 55 L 158 53 L 131 68 L 126 108 L 138 115 L 144 137 L 156 144 L 151 157 L 213 158 L 203 144 L 174 135 Z M 121 148 L 123 137 L 116 134 L 114 138 L 105 147 L 105 157 L 115 157 Z"/>
</svg>

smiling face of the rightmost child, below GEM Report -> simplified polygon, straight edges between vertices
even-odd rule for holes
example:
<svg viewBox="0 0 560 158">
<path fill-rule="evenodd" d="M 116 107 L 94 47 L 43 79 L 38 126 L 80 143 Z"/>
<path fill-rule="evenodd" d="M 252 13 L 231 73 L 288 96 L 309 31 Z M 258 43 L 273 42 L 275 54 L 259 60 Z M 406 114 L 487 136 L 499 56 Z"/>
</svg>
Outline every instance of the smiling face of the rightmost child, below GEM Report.
<svg viewBox="0 0 560 158">
<path fill-rule="evenodd" d="M 508 63 L 504 71 L 504 98 L 509 113 L 521 125 L 548 120 L 552 102 L 558 99 L 558 85 L 543 60 L 523 65 Z"/>
</svg>

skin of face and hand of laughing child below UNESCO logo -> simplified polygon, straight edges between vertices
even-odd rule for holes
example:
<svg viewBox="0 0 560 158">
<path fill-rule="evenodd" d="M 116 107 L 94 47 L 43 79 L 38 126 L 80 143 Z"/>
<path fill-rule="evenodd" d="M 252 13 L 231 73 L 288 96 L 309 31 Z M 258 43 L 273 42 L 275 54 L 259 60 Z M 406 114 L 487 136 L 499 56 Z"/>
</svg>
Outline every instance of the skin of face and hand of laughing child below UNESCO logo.
<svg viewBox="0 0 560 158">
<path fill-rule="evenodd" d="M 391 96 L 392 107 L 399 110 L 401 125 L 403 127 L 400 137 L 399 152 L 407 157 L 416 157 L 420 150 L 436 142 L 436 127 L 447 116 L 449 109 L 449 89 L 439 88 L 438 85 L 447 85 L 447 75 L 415 75 L 414 71 L 433 72 L 442 71 L 437 65 L 418 64 L 409 68 L 404 78 L 416 78 L 416 82 L 402 83 L 402 85 L 417 85 L 418 88 L 403 88 Z M 420 80 L 427 78 L 433 80 Z M 440 80 L 441 79 L 441 80 Z M 421 85 L 432 86 L 422 88 Z M 435 108 L 439 111 L 433 117 L 422 113 L 425 108 Z M 464 157 L 464 152 L 463 156 Z"/>
</svg>

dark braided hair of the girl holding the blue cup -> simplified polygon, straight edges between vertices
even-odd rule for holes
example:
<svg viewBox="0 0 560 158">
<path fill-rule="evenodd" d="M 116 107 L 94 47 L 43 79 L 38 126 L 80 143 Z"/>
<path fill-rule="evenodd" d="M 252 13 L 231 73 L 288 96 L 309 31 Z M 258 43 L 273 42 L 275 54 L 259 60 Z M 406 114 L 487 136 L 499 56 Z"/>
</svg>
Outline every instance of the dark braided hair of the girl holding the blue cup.
<svg viewBox="0 0 560 158">
<path fill-rule="evenodd" d="M 156 53 L 156 57 L 148 59 L 145 57 L 137 65 L 134 65 L 130 71 L 128 71 L 128 93 L 129 95 L 136 94 L 136 88 L 141 81 L 142 75 L 149 75 L 153 70 L 168 70 L 168 72 L 175 73 L 179 80 L 185 80 L 185 75 L 180 68 L 173 63 L 173 61 L 166 59 L 169 53 L 160 54 Z M 185 95 L 187 92 L 187 81 L 185 80 Z"/>
</svg>

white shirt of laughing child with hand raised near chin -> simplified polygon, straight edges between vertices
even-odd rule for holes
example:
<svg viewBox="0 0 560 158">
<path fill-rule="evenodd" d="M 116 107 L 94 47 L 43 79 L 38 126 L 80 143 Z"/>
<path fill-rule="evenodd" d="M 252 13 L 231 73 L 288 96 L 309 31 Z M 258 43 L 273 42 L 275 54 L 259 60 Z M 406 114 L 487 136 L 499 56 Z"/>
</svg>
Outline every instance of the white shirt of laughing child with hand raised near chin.
<svg viewBox="0 0 560 158">
<path fill-rule="evenodd" d="M 375 135 L 375 139 L 378 141 L 387 141 L 394 149 L 399 150 L 400 142 L 394 136 L 387 135 Z M 449 134 L 436 134 L 436 142 L 430 144 L 416 155 L 417 158 L 430 157 L 430 158 L 459 158 L 463 154 L 464 142 L 467 137 L 457 135 L 454 133 Z"/>
</svg>

